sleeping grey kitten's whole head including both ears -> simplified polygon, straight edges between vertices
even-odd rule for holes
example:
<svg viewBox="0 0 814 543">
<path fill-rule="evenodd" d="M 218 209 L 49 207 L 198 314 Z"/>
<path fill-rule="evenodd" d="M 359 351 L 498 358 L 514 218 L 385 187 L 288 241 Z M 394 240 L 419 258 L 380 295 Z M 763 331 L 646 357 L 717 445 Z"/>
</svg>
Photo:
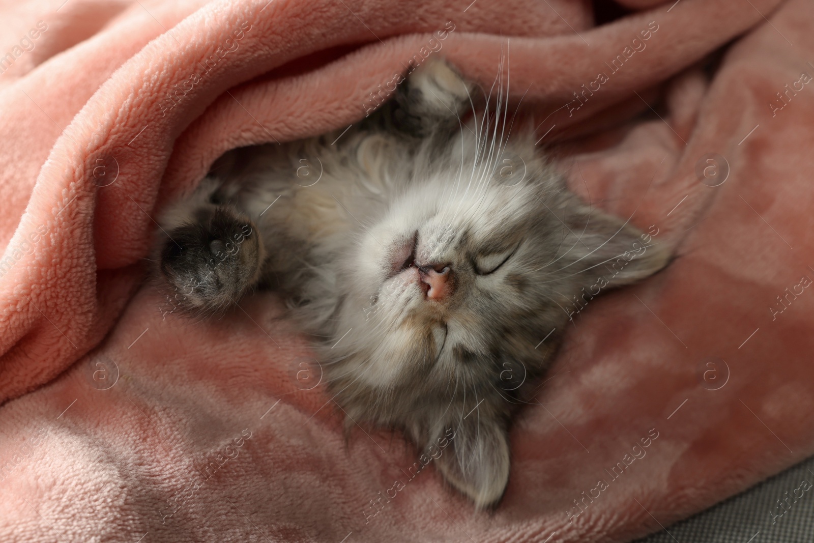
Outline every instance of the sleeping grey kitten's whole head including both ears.
<svg viewBox="0 0 814 543">
<path fill-rule="evenodd" d="M 599 291 L 661 269 L 667 253 L 581 203 L 533 142 L 501 152 L 514 178 L 501 175 L 504 160 L 478 164 L 461 148 L 428 150 L 427 164 L 452 165 L 417 170 L 346 257 L 336 330 L 352 332 L 331 349 L 331 379 L 355 420 L 373 413 L 437 450 L 453 431 L 436 466 L 487 506 L 508 480 L 510 414 L 558 334 L 541 340 Z"/>
</svg>

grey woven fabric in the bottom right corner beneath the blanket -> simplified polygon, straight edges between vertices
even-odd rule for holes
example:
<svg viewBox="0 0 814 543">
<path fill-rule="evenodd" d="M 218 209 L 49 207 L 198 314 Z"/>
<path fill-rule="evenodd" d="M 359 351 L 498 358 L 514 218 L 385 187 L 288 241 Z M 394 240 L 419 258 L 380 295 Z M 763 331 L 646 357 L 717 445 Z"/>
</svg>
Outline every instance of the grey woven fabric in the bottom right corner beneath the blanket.
<svg viewBox="0 0 814 543">
<path fill-rule="evenodd" d="M 807 481 L 808 485 L 802 481 Z M 814 541 L 814 458 L 637 543 L 811 543 Z M 803 488 L 808 486 L 807 491 Z M 803 497 L 796 503 L 794 494 Z M 787 500 L 788 510 L 777 504 Z M 782 515 L 780 515 L 782 514 Z M 778 515 L 776 518 L 772 515 Z"/>
</svg>

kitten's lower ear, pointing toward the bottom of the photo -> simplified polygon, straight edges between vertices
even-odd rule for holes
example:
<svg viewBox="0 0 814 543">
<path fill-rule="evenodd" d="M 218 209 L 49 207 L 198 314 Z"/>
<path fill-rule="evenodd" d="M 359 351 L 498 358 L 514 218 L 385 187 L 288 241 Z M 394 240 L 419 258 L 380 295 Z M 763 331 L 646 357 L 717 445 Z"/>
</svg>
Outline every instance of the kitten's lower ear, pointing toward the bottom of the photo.
<svg viewBox="0 0 814 543">
<path fill-rule="evenodd" d="M 479 415 L 475 409 L 460 423 L 447 427 L 444 436 L 431 442 L 427 450 L 444 479 L 478 507 L 492 506 L 501 499 L 510 466 L 505 423 L 484 417 L 483 411 Z"/>
</svg>

